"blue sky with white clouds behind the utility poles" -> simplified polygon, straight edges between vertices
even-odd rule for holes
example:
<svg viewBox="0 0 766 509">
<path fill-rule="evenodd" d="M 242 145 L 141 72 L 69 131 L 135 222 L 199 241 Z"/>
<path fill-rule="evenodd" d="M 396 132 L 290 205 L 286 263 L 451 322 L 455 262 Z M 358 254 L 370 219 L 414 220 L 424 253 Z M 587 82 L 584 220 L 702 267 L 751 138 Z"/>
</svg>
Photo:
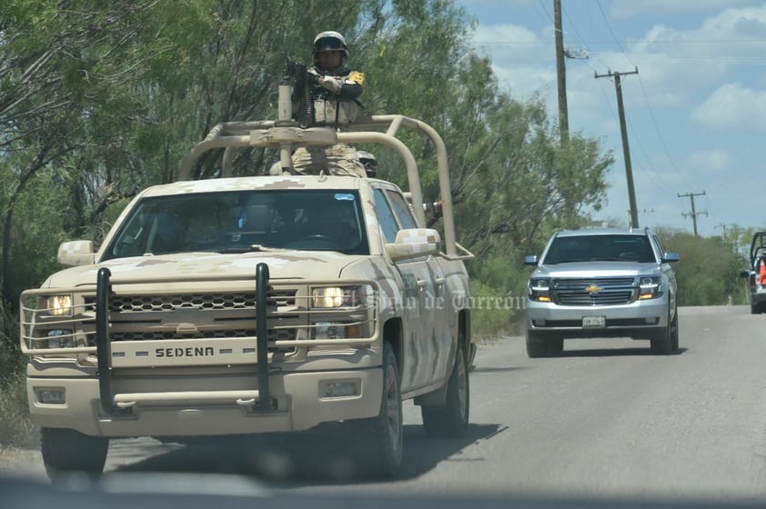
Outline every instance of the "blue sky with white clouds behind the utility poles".
<svg viewBox="0 0 766 509">
<path fill-rule="evenodd" d="M 500 85 L 541 95 L 558 118 L 553 0 L 459 0 L 475 49 Z M 561 0 L 569 130 L 598 138 L 615 164 L 598 219 L 627 223 L 629 197 L 614 82 L 621 76 L 641 226 L 699 235 L 766 229 L 766 2 Z M 586 58 L 587 56 L 587 58 Z M 686 216 L 684 216 L 686 214 Z"/>
</svg>

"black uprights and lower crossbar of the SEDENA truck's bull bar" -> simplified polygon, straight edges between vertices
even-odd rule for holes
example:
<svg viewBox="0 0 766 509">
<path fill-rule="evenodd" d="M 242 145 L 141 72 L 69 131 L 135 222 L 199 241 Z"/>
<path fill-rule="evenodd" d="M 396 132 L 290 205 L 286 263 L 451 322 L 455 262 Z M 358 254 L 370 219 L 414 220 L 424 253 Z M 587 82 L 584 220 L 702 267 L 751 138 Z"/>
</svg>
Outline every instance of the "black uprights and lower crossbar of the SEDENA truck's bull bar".
<svg viewBox="0 0 766 509">
<path fill-rule="evenodd" d="M 111 271 L 102 267 L 96 274 L 96 359 L 98 365 L 98 392 L 101 398 L 101 407 L 105 414 L 119 417 L 131 414 L 130 407 L 134 402 L 126 402 L 126 394 L 114 394 L 112 390 L 112 362 L 111 362 L 111 341 L 109 339 L 109 295 L 112 294 L 112 284 L 110 281 Z M 271 391 L 269 387 L 269 366 L 268 366 L 268 286 L 269 274 L 267 264 L 257 264 L 256 266 L 256 331 L 257 331 L 257 379 L 258 390 L 257 399 L 252 396 L 252 392 L 228 392 L 220 397 L 217 394 L 199 394 L 196 392 L 166 394 L 164 398 L 172 401 L 178 398 L 189 400 L 200 399 L 219 400 L 226 399 L 228 395 L 237 404 L 247 403 L 253 400 L 253 408 L 257 412 L 271 412 L 276 410 L 271 401 Z M 247 394 L 246 394 L 247 393 Z M 136 394 L 130 394 L 127 399 L 138 399 Z M 163 398 L 161 398 L 163 399 Z M 200 400 L 201 401 L 201 400 Z"/>
</svg>

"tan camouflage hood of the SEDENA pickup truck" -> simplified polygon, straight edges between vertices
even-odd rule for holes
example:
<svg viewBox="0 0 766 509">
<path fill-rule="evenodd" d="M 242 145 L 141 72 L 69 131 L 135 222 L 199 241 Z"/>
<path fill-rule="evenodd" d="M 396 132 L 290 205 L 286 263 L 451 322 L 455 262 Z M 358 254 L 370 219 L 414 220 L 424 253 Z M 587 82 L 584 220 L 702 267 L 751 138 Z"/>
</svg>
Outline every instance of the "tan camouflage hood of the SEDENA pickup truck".
<svg viewBox="0 0 766 509">
<path fill-rule="evenodd" d="M 184 253 L 176 255 L 135 256 L 116 258 L 101 264 L 66 268 L 51 275 L 43 288 L 96 284 L 98 270 L 107 267 L 114 280 L 129 284 L 131 281 L 151 280 L 156 283 L 183 281 L 184 276 L 195 279 L 225 275 L 228 280 L 255 281 L 257 264 L 267 264 L 271 279 L 294 278 L 335 280 L 348 265 L 360 256 L 341 255 L 326 251 L 280 251 L 245 254 Z M 364 258 L 368 258 L 365 256 Z M 348 272 L 348 271 L 347 271 Z"/>
</svg>

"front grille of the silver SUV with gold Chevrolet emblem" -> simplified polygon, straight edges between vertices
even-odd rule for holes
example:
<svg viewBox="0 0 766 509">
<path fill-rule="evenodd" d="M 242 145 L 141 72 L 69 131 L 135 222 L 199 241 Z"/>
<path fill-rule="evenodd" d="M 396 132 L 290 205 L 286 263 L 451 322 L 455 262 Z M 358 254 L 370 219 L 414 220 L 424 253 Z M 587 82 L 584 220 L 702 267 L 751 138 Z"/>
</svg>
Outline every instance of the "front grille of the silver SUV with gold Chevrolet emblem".
<svg viewBox="0 0 766 509">
<path fill-rule="evenodd" d="M 552 296 L 560 305 L 629 304 L 634 300 L 635 278 L 557 279 Z"/>
</svg>

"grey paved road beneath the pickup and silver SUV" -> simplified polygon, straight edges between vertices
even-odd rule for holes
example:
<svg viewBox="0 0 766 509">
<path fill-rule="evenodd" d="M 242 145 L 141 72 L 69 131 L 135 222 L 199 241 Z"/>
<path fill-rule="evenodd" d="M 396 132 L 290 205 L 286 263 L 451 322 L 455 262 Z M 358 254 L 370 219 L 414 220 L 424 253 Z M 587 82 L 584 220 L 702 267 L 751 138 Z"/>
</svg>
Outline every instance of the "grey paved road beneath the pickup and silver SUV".
<svg viewBox="0 0 766 509">
<path fill-rule="evenodd" d="M 680 310 L 680 354 L 649 342 L 571 340 L 529 359 L 523 338 L 482 345 L 469 436 L 429 440 L 406 405 L 406 466 L 395 483 L 348 481 L 337 444 L 314 436 L 181 447 L 113 444 L 107 471 L 256 474 L 298 494 L 499 494 L 766 502 L 766 315 Z M 298 459 L 300 458 L 300 459 Z M 41 474 L 39 456 L 21 467 Z"/>
</svg>

